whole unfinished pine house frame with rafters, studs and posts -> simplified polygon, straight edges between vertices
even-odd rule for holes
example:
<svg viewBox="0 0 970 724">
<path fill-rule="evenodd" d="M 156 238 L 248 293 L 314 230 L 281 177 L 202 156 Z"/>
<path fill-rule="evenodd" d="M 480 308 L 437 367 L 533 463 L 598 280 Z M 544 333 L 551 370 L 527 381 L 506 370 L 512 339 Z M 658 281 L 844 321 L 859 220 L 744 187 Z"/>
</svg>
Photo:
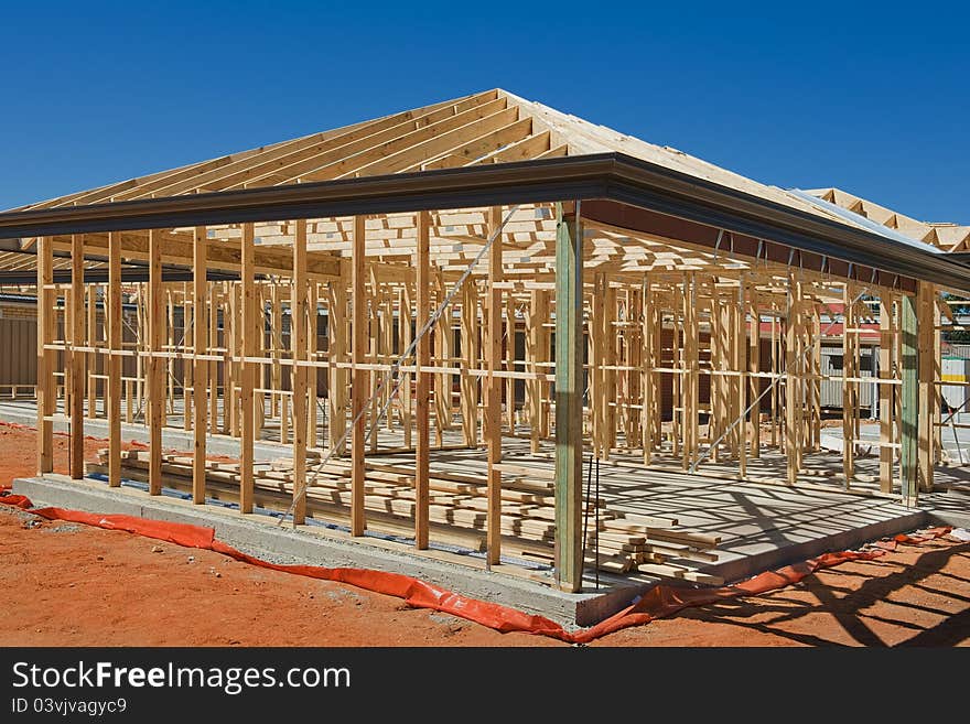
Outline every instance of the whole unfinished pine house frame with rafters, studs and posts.
<svg viewBox="0 0 970 724">
<path fill-rule="evenodd" d="M 250 514 L 272 428 L 292 450 L 293 522 L 346 455 L 348 487 L 334 485 L 363 536 L 374 461 L 412 451 L 403 517 L 424 550 L 452 520 L 431 457 L 484 447 L 487 564 L 521 534 L 508 500 L 527 498 L 508 482 L 538 477 L 569 591 L 589 563 L 584 451 L 744 479 L 776 455 L 794 485 L 821 449 L 823 379 L 843 386 L 843 487 L 859 482 L 859 386 L 874 385 L 879 489 L 915 504 L 939 453 L 939 291 L 970 292 L 970 268 L 931 247 L 502 90 L 14 209 L 0 234 L 20 238 L 0 262 L 35 266 L 41 474 L 55 419 L 83 451 L 85 415 L 103 414 L 119 485 L 123 414 L 151 432 L 153 495 L 163 429 L 194 431 L 204 504 L 218 432 L 239 441 Z M 844 366 L 824 376 L 837 315 Z M 880 368 L 863 380 L 866 322 Z M 517 436 L 551 445 L 554 469 L 505 457 Z M 69 474 L 85 474 L 79 452 Z"/>
</svg>

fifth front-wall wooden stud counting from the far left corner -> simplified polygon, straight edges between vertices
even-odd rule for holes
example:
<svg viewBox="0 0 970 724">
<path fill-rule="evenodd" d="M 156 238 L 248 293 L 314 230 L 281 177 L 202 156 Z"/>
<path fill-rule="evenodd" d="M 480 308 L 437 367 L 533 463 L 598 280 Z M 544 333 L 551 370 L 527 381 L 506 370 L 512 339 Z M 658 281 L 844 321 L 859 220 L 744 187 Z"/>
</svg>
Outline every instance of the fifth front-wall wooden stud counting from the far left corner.
<svg viewBox="0 0 970 724">
<path fill-rule="evenodd" d="M 192 268 L 195 275 L 192 281 L 192 345 L 196 355 L 192 364 L 192 396 L 194 418 L 192 423 L 193 436 L 193 463 L 192 463 L 192 503 L 203 505 L 205 503 L 205 455 L 206 435 L 208 434 L 208 361 L 200 359 L 198 355 L 207 354 L 208 320 L 206 309 L 208 302 L 208 283 L 202 270 L 206 268 L 208 237 L 204 226 L 195 228 L 193 246 L 195 258 Z M 187 366 L 187 360 L 186 360 Z M 216 400 L 213 400 L 215 407 Z"/>
</svg>

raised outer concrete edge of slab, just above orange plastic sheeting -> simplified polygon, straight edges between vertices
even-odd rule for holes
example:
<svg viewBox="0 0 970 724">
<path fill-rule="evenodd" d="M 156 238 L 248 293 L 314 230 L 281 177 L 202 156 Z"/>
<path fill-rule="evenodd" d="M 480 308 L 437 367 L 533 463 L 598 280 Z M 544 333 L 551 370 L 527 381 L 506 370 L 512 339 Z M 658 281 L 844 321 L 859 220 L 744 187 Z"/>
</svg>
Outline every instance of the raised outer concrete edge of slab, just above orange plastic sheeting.
<svg viewBox="0 0 970 724">
<path fill-rule="evenodd" d="M 28 496 L 37 506 L 57 506 L 89 512 L 123 514 L 152 520 L 191 523 L 213 528 L 218 539 L 248 553 L 280 563 L 305 563 L 331 568 L 351 566 L 411 575 L 473 598 L 499 603 L 527 613 L 552 618 L 565 626 L 590 626 L 628 606 L 656 582 L 614 585 L 599 592 L 571 594 L 539 581 L 409 552 L 401 543 L 376 538 L 351 538 L 319 526 L 277 525 L 267 515 L 242 516 L 216 506 L 195 506 L 179 497 L 149 496 L 132 487 L 109 488 L 103 482 L 72 480 L 64 476 L 19 478 L 14 493 Z M 970 515 L 933 509 L 907 510 L 877 522 L 819 536 L 798 543 L 763 547 L 744 555 L 712 563 L 701 570 L 726 581 L 739 581 L 762 571 L 787 565 L 834 550 L 858 548 L 862 543 L 928 525 L 967 526 Z M 453 559 L 454 560 L 454 559 Z"/>
</svg>

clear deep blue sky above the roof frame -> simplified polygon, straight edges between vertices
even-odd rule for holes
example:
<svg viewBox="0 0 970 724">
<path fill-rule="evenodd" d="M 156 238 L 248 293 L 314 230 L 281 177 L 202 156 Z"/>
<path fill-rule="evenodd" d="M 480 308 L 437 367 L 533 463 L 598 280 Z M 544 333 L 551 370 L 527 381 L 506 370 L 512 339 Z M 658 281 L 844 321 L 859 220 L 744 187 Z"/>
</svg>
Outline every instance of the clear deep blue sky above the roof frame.
<svg viewBox="0 0 970 724">
<path fill-rule="evenodd" d="M 970 224 L 957 3 L 131 4 L 4 7 L 0 208 L 497 86 Z"/>
</svg>

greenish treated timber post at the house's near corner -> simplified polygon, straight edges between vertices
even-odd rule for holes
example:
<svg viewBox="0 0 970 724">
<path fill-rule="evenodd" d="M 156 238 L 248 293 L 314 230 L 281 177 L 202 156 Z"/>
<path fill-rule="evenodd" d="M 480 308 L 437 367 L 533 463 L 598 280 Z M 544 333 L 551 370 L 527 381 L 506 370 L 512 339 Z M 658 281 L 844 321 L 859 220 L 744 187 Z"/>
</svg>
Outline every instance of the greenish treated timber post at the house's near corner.
<svg viewBox="0 0 970 724">
<path fill-rule="evenodd" d="M 579 204 L 576 204 L 579 206 Z M 583 236 L 579 214 L 556 205 L 556 575 L 583 586 Z"/>
</svg>

